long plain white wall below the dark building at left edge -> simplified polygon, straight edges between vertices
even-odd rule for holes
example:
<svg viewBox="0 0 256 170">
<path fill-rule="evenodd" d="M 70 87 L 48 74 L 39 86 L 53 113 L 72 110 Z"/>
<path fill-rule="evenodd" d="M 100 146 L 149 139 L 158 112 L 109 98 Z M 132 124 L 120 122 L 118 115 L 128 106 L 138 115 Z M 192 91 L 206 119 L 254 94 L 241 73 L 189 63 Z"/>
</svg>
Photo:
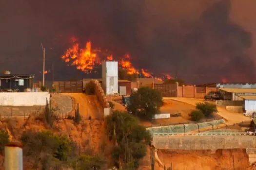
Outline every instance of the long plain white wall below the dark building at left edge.
<svg viewBox="0 0 256 170">
<path fill-rule="evenodd" d="M 0 105 L 41 106 L 46 105 L 46 98 L 50 100 L 50 94 L 48 92 L 0 93 Z"/>
</svg>

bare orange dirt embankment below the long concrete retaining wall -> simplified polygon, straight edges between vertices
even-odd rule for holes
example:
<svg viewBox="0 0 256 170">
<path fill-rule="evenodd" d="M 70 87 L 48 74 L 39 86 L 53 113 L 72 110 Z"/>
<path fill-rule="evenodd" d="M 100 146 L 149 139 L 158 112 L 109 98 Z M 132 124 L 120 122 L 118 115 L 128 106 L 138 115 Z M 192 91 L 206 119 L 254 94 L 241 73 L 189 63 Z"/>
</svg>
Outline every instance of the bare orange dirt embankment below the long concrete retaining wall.
<svg viewBox="0 0 256 170">
<path fill-rule="evenodd" d="M 172 170 L 256 170 L 249 165 L 243 149 L 211 151 L 166 151 L 158 150 L 158 157 L 166 169 Z M 234 161 L 233 161 L 234 160 Z M 141 161 L 139 170 L 151 170 L 150 152 Z M 155 163 L 155 170 L 164 170 Z"/>
</svg>

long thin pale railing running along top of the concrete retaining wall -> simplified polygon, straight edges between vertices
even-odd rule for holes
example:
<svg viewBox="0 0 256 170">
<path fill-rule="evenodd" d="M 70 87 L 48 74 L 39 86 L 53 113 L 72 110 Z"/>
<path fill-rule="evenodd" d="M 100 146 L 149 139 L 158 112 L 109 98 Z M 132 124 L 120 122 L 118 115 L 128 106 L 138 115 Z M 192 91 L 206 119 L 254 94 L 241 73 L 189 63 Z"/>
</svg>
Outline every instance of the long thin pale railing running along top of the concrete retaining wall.
<svg viewBox="0 0 256 170">
<path fill-rule="evenodd" d="M 154 133 L 154 136 L 256 136 L 254 132 L 187 132 L 187 133 Z"/>
</svg>

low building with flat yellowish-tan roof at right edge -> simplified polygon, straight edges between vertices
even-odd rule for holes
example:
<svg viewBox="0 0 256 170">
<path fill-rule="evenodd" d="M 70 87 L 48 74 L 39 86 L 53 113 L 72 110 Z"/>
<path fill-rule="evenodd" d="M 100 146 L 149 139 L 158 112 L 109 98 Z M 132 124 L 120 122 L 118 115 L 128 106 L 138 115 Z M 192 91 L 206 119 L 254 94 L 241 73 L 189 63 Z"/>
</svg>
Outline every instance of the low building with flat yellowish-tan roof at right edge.
<svg viewBox="0 0 256 170">
<path fill-rule="evenodd" d="M 256 88 L 218 88 L 224 100 L 241 101 L 239 96 L 256 95 Z"/>
</svg>

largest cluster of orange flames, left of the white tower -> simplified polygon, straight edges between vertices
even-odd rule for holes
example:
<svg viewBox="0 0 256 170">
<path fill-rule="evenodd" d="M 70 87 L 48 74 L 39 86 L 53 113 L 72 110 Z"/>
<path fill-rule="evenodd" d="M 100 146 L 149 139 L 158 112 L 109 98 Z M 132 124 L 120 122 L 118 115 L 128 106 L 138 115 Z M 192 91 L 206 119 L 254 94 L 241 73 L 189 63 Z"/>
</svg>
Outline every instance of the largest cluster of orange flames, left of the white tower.
<svg viewBox="0 0 256 170">
<path fill-rule="evenodd" d="M 76 41 L 75 38 L 72 38 L 72 40 L 73 42 Z M 92 51 L 91 41 L 86 43 L 84 49 L 80 49 L 79 44 L 75 43 L 61 58 L 66 63 L 72 60 L 71 66 L 76 66 L 77 69 L 83 72 L 89 72 L 93 69 L 94 64 L 100 64 L 100 59 L 97 57 L 96 53 Z"/>
</svg>

